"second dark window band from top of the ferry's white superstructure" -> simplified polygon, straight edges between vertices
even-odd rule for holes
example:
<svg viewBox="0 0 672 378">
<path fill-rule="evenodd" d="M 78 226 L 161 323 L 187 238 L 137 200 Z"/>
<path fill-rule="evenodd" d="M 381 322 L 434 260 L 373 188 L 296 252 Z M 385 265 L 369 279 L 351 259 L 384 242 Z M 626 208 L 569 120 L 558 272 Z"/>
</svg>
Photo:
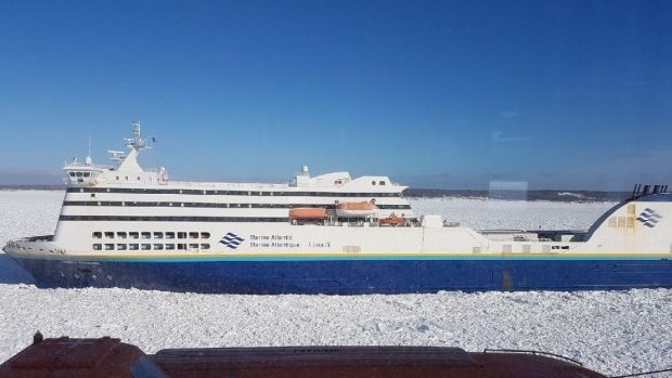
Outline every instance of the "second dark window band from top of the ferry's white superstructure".
<svg viewBox="0 0 672 378">
<path fill-rule="evenodd" d="M 323 207 L 335 209 L 335 205 L 315 204 L 214 204 L 214 203 L 145 203 L 145 201 L 119 201 L 119 200 L 65 200 L 64 206 L 127 206 L 127 207 L 198 207 L 198 208 L 251 208 L 251 209 L 295 209 L 305 207 Z M 411 205 L 376 205 L 383 210 L 410 209 Z"/>
</svg>

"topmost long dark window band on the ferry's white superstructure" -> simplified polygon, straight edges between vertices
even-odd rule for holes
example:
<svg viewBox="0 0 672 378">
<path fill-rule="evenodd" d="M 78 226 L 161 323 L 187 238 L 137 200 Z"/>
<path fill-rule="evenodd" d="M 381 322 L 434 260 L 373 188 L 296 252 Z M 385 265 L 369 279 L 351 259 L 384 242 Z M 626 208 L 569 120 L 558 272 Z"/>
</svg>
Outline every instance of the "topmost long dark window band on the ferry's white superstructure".
<svg viewBox="0 0 672 378">
<path fill-rule="evenodd" d="M 68 187 L 68 193 L 135 193 L 135 194 L 197 194 L 241 196 L 303 196 L 303 197 L 401 197 L 401 193 L 343 193 L 343 192 L 259 192 L 259 191 L 203 191 L 154 190 L 130 187 Z"/>
</svg>

